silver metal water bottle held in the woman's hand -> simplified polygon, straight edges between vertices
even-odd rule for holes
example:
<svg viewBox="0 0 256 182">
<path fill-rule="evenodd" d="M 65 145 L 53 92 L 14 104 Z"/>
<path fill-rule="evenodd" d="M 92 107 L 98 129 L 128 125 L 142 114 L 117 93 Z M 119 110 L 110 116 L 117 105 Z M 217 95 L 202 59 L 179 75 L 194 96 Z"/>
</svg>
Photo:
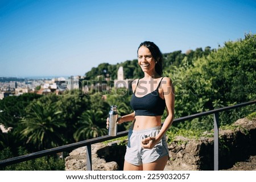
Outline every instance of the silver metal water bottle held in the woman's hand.
<svg viewBox="0 0 256 182">
<path fill-rule="evenodd" d="M 116 136 L 117 135 L 117 106 L 111 106 L 111 110 L 109 111 L 109 135 Z"/>
</svg>

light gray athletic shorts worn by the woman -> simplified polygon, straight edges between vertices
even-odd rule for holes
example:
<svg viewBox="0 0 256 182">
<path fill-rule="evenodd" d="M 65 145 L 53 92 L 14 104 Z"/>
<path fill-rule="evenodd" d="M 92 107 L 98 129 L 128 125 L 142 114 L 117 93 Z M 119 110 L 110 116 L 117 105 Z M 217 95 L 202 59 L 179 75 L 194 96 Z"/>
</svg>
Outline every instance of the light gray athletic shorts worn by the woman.
<svg viewBox="0 0 256 182">
<path fill-rule="evenodd" d="M 162 158 L 162 156 L 169 155 L 165 135 L 152 149 L 142 148 L 141 146 L 141 140 L 144 135 L 147 137 L 155 137 L 158 135 L 160 129 L 160 126 L 139 131 L 130 129 L 125 154 L 126 162 L 135 166 L 141 166 L 144 163 L 151 163 L 159 158 Z"/>
</svg>

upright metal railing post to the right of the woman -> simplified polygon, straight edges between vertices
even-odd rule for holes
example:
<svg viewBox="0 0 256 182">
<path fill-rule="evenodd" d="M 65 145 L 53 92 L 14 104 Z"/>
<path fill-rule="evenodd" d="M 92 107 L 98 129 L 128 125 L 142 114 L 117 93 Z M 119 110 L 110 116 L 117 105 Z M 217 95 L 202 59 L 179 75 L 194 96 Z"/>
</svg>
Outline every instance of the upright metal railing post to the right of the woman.
<svg viewBox="0 0 256 182">
<path fill-rule="evenodd" d="M 218 171 L 218 113 L 213 114 L 214 120 L 214 171 Z"/>
</svg>

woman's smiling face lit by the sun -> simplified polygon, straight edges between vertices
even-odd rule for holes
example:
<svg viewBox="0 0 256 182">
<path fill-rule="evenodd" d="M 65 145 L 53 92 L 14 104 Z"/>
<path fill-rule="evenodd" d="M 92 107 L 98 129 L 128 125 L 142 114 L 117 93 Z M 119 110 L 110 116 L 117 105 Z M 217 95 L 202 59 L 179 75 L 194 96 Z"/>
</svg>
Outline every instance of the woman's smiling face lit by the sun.
<svg viewBox="0 0 256 182">
<path fill-rule="evenodd" d="M 155 59 L 145 46 L 141 46 L 138 49 L 138 63 L 143 72 L 155 72 Z"/>
</svg>

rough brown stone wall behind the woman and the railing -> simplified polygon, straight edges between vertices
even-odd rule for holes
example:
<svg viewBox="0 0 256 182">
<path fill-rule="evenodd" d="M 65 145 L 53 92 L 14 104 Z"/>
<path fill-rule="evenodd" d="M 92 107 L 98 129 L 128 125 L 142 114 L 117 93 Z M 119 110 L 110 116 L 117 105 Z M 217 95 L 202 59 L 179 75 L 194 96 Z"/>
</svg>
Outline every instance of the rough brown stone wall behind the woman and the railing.
<svg viewBox="0 0 256 182">
<path fill-rule="evenodd" d="M 238 127 L 219 132 L 220 169 L 256 155 L 256 119 L 238 119 L 233 125 Z M 126 147 L 119 142 L 92 145 L 93 170 L 122 170 Z M 170 160 L 165 170 L 213 170 L 213 143 L 213 137 L 176 137 L 168 146 Z M 86 170 L 85 147 L 72 151 L 65 161 L 66 170 Z"/>
</svg>

